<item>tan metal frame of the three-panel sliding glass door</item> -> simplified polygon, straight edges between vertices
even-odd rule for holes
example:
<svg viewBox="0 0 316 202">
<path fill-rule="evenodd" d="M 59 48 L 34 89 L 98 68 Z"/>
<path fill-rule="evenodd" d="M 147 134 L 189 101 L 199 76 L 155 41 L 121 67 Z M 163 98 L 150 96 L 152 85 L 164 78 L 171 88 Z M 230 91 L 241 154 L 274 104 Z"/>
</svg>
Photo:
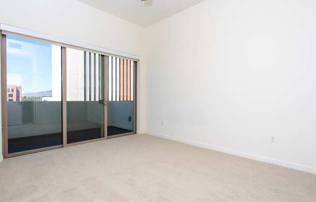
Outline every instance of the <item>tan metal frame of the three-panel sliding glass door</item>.
<svg viewBox="0 0 316 202">
<path fill-rule="evenodd" d="M 11 34 L 11 33 L 10 33 Z M 32 39 L 36 41 L 41 41 L 49 44 L 55 44 L 61 46 L 61 52 L 62 52 L 62 57 L 61 57 L 61 64 L 62 64 L 62 134 L 63 134 L 63 144 L 62 145 L 56 145 L 56 146 L 51 146 L 51 147 L 46 147 L 46 148 L 39 148 L 39 149 L 34 149 L 34 150 L 27 150 L 27 151 L 22 151 L 22 152 L 14 152 L 14 153 L 8 153 L 8 130 L 7 130 L 7 68 L 6 68 L 6 34 L 1 33 L 0 34 L 0 56 L 1 56 L 1 120 L 2 120 L 2 153 L 4 158 L 8 157 L 13 157 L 13 156 L 18 156 L 18 155 L 24 155 L 24 154 L 29 154 L 29 153 L 35 153 L 35 152 L 43 152 L 47 150 L 53 150 L 53 149 L 58 149 L 58 148 L 63 148 L 63 147 L 69 147 L 73 145 L 79 145 L 79 144 L 84 144 L 88 142 L 95 142 L 99 140 L 105 140 L 105 139 L 110 139 L 110 138 L 115 138 L 115 137 L 120 137 L 120 136 L 126 136 L 126 135 L 133 135 L 136 134 L 137 131 L 137 61 L 132 59 L 133 62 L 133 101 L 134 101 L 134 128 L 133 132 L 129 133 L 124 133 L 124 134 L 119 134 L 119 135 L 111 135 L 108 136 L 107 134 L 107 123 L 108 123 L 108 106 L 104 106 L 104 137 L 101 138 L 96 138 L 96 139 L 91 139 L 91 140 L 86 140 L 86 141 L 81 141 L 81 142 L 74 142 L 74 143 L 69 143 L 67 144 L 67 86 L 66 86 L 66 72 L 67 72 L 67 67 L 66 67 L 66 49 L 67 47 L 73 48 L 71 45 L 67 46 L 65 44 L 59 44 L 56 42 L 48 41 L 45 39 L 40 39 L 40 38 L 35 38 L 31 36 L 25 36 L 21 34 L 12 34 L 18 37 L 22 38 L 27 38 L 27 39 Z M 76 47 L 78 50 L 85 50 L 85 51 L 93 51 L 93 50 L 86 50 L 82 49 L 80 47 Z M 106 53 L 101 53 L 98 51 L 93 51 L 97 52 L 100 55 L 103 55 L 104 57 L 104 64 L 103 64 L 103 69 L 104 69 L 104 99 L 108 98 L 108 82 L 107 82 L 107 74 L 108 74 L 108 60 L 107 56 L 109 54 Z M 119 56 L 115 56 L 119 57 Z M 125 58 L 125 57 L 120 57 L 120 58 Z M 126 58 L 131 60 L 130 58 Z M 101 67 L 102 68 L 102 67 Z M 106 101 L 107 103 L 107 101 Z"/>
</svg>

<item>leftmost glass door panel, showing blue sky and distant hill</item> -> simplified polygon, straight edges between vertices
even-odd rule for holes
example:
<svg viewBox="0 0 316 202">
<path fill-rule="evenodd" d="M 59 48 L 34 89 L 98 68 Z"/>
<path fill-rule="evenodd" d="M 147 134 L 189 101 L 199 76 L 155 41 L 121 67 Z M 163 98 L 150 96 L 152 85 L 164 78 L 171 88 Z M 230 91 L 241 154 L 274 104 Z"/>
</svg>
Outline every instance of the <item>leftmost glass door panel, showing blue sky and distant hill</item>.
<svg viewBox="0 0 316 202">
<path fill-rule="evenodd" d="M 61 47 L 7 35 L 6 67 L 7 152 L 62 145 Z"/>
</svg>

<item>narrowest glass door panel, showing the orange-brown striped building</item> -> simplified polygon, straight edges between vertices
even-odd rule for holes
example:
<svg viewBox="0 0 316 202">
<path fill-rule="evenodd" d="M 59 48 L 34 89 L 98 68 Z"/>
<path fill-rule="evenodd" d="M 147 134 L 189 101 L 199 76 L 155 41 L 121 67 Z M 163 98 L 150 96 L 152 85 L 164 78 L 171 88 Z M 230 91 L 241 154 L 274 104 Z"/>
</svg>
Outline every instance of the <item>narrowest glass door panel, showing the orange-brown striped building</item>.
<svg viewBox="0 0 316 202">
<path fill-rule="evenodd" d="M 108 56 L 108 136 L 134 132 L 136 62 Z"/>
</svg>

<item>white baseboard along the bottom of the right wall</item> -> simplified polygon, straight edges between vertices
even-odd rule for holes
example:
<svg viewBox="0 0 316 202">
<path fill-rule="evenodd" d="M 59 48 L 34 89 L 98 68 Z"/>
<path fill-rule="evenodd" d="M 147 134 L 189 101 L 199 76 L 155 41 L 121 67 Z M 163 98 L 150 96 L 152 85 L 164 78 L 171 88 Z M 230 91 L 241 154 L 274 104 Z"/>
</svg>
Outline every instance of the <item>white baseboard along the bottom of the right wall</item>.
<svg viewBox="0 0 316 202">
<path fill-rule="evenodd" d="M 229 154 L 236 155 L 236 156 L 241 156 L 241 157 L 245 157 L 245 158 L 249 158 L 249 159 L 253 159 L 253 160 L 257 160 L 257 161 L 261 161 L 261 162 L 266 162 L 266 163 L 274 164 L 277 166 L 297 169 L 297 170 L 301 170 L 304 172 L 310 172 L 310 173 L 316 174 L 316 168 L 313 168 L 313 167 L 303 166 L 300 164 L 290 163 L 290 162 L 286 162 L 286 161 L 282 161 L 282 160 L 278 160 L 278 159 L 273 159 L 273 158 L 269 158 L 269 157 L 265 157 L 265 156 L 258 156 L 258 155 L 251 154 L 251 153 L 239 152 L 239 151 L 230 150 L 227 148 L 212 146 L 212 145 L 208 145 L 208 144 L 203 144 L 203 143 L 199 143 L 199 142 L 195 142 L 195 141 L 180 139 L 180 138 L 171 137 L 171 136 L 162 135 L 162 134 L 157 134 L 157 133 L 152 133 L 152 132 L 146 132 L 146 134 L 165 138 L 165 139 L 170 139 L 170 140 L 174 140 L 174 141 L 178 141 L 178 142 L 182 142 L 182 143 L 186 143 L 189 145 L 203 147 L 203 148 L 215 150 L 218 152 L 229 153 Z"/>
</svg>

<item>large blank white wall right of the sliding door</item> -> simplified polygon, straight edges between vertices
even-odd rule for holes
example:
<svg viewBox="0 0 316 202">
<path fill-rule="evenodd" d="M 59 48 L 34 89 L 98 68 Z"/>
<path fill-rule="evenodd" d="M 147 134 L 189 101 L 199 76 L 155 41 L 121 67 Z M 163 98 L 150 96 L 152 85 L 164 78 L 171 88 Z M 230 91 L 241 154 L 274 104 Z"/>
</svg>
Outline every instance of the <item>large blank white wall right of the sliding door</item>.
<svg viewBox="0 0 316 202">
<path fill-rule="evenodd" d="M 206 0 L 149 27 L 147 131 L 316 172 L 315 11 Z"/>
</svg>

